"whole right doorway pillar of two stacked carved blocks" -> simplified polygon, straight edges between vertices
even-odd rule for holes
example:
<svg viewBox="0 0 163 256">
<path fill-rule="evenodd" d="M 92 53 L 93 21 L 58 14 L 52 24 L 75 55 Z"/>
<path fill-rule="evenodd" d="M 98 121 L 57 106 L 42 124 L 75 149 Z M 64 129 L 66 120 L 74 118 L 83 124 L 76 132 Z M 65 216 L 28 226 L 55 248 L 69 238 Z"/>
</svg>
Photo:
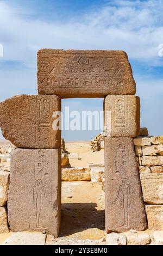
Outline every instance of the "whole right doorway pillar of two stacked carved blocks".
<svg viewBox="0 0 163 256">
<path fill-rule="evenodd" d="M 133 138 L 140 130 L 139 98 L 108 95 L 105 109 L 105 228 L 123 232 L 144 230 L 142 200 Z"/>
</svg>

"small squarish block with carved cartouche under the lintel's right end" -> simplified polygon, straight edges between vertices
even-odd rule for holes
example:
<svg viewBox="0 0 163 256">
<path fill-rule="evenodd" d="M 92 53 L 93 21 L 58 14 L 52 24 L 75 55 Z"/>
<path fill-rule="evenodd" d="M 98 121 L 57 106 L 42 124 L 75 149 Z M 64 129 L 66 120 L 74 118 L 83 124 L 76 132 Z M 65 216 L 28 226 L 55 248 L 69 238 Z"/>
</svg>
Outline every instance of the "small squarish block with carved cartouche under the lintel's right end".
<svg viewBox="0 0 163 256">
<path fill-rule="evenodd" d="M 140 133 L 140 99 L 134 95 L 108 95 L 104 100 L 105 136 L 136 137 Z"/>
</svg>

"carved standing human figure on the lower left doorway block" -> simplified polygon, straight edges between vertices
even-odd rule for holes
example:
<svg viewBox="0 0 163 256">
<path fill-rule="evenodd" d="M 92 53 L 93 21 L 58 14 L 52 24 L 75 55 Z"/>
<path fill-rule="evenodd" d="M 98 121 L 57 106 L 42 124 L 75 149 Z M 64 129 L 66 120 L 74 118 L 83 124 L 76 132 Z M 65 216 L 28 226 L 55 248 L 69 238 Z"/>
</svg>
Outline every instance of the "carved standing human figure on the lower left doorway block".
<svg viewBox="0 0 163 256">
<path fill-rule="evenodd" d="M 36 228 L 43 228 L 40 224 L 40 214 L 42 208 L 42 199 L 46 198 L 45 189 L 42 180 L 37 180 L 36 185 L 33 188 L 33 205 L 36 209 Z"/>
</svg>

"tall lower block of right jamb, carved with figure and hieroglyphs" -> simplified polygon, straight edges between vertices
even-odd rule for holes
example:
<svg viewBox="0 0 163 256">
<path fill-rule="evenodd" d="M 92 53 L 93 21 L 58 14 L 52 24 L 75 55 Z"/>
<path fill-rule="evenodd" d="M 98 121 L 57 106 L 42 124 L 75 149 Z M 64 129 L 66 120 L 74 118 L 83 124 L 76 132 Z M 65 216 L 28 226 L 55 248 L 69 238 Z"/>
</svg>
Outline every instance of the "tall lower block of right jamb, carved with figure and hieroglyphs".
<svg viewBox="0 0 163 256">
<path fill-rule="evenodd" d="M 144 230 L 146 215 L 133 139 L 105 137 L 104 143 L 106 231 Z"/>
</svg>

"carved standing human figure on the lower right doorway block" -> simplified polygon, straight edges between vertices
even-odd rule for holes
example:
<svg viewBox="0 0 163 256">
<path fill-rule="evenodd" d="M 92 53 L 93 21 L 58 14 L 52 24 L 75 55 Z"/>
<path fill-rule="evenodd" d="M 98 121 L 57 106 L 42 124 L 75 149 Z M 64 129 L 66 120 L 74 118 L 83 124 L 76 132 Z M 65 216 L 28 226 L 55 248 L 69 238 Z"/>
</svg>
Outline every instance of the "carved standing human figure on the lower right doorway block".
<svg viewBox="0 0 163 256">
<path fill-rule="evenodd" d="M 129 215 L 128 209 L 131 204 L 131 187 L 128 184 L 127 179 L 122 180 L 122 185 L 119 188 L 118 195 L 114 200 L 114 204 L 117 202 L 119 198 L 122 198 L 122 206 L 123 206 L 123 224 L 122 227 L 128 227 L 129 225 Z"/>
</svg>

